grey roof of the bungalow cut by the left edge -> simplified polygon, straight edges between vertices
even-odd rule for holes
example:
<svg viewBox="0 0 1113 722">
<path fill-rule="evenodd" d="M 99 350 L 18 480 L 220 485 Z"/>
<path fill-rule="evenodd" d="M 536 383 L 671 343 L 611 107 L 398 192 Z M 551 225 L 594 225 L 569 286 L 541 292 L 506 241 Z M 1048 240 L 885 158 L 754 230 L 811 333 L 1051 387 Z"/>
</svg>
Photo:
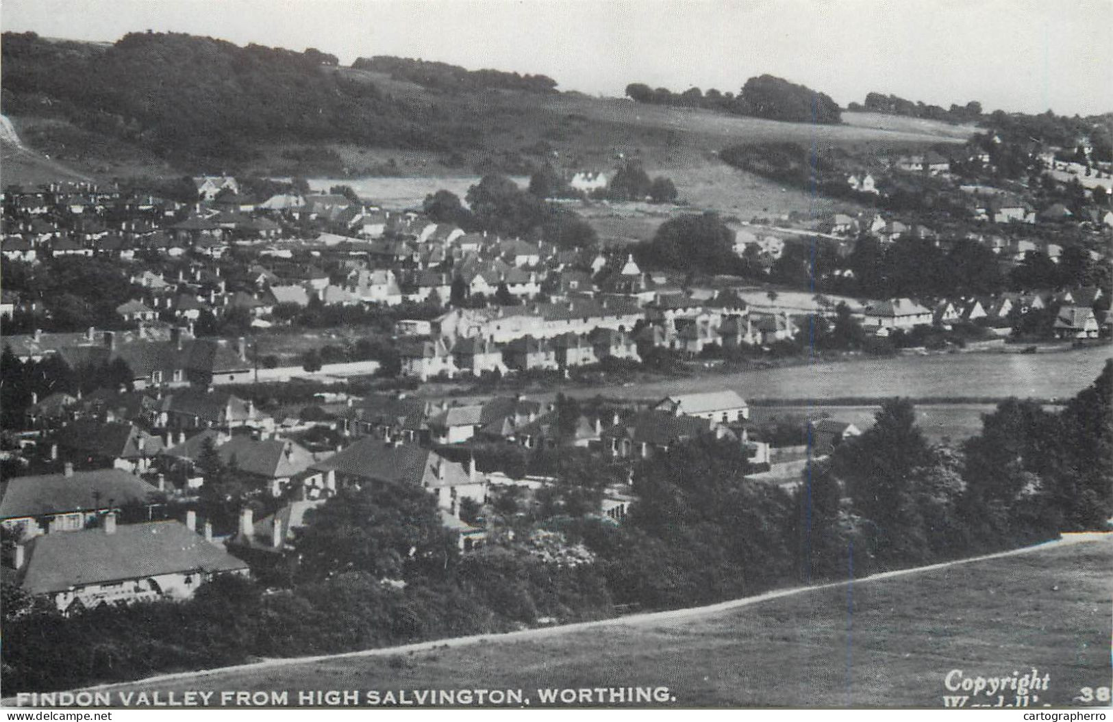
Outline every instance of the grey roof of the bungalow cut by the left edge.
<svg viewBox="0 0 1113 722">
<path fill-rule="evenodd" d="M 17 476 L 0 483 L 0 520 L 147 503 L 155 487 L 118 468 Z"/>
</svg>

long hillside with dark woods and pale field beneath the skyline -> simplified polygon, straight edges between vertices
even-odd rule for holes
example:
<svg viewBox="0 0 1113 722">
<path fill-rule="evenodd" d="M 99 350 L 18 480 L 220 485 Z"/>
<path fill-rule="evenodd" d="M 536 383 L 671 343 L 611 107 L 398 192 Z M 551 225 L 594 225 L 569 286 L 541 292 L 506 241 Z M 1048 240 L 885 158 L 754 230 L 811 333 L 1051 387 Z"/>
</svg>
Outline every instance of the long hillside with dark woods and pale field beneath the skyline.
<svg viewBox="0 0 1113 722">
<path fill-rule="evenodd" d="M 546 161 L 608 168 L 621 158 L 701 169 L 719 167 L 715 152 L 739 140 L 892 149 L 971 131 L 856 113 L 817 126 L 577 92 L 446 91 L 181 34 L 131 33 L 106 47 L 6 33 L 2 50 L 3 106 L 24 142 L 101 177 L 522 175 Z"/>
</svg>

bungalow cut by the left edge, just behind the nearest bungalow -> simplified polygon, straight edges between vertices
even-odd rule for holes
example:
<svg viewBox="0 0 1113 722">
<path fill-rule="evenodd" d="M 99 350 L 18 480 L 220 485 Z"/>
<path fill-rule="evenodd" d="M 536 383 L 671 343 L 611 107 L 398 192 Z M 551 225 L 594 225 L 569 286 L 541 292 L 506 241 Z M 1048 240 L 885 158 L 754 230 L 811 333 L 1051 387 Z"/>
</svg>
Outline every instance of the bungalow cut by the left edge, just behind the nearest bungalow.
<svg viewBox="0 0 1113 722">
<path fill-rule="evenodd" d="M 157 489 L 118 468 L 16 476 L 0 482 L 0 526 L 17 537 L 83 530 L 100 514 L 149 506 Z"/>
</svg>

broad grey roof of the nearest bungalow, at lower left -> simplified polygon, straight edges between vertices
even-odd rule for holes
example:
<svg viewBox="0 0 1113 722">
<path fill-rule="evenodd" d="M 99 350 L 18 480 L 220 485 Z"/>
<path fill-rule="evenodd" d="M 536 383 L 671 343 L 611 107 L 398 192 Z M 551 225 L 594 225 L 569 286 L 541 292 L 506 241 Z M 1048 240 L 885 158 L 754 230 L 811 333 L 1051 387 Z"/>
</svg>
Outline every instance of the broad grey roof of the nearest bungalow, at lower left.
<svg viewBox="0 0 1113 722">
<path fill-rule="evenodd" d="M 111 534 L 91 528 L 36 537 L 29 544 L 22 587 L 46 594 L 161 574 L 244 568 L 245 562 L 180 522 L 119 524 Z"/>
</svg>

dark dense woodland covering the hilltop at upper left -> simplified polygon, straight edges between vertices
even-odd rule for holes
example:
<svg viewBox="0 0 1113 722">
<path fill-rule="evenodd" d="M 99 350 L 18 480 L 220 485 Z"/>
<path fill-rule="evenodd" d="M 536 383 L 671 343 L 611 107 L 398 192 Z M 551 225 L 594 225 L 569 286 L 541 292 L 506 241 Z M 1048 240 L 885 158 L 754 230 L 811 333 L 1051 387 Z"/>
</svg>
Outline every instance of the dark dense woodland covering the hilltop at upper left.
<svg viewBox="0 0 1113 722">
<path fill-rule="evenodd" d="M 472 147 L 476 128 L 348 79 L 324 53 L 128 33 L 107 49 L 3 33 L 2 102 L 62 118 L 183 167 L 235 164 L 260 142 Z"/>
</svg>

